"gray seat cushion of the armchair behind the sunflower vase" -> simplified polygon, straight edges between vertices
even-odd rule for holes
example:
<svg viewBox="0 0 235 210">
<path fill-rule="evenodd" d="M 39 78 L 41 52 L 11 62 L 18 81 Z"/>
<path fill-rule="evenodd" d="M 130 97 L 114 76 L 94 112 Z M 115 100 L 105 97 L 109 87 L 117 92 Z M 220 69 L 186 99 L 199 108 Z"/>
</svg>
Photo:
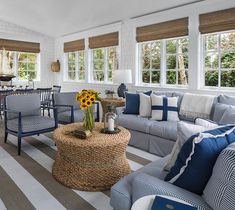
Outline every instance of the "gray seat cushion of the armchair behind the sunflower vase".
<svg viewBox="0 0 235 210">
<path fill-rule="evenodd" d="M 73 111 L 74 114 L 74 122 L 82 122 L 84 117 L 84 111 L 81 109 L 75 109 Z M 71 111 L 64 111 L 58 113 L 58 121 L 59 122 L 71 122 Z"/>
</svg>

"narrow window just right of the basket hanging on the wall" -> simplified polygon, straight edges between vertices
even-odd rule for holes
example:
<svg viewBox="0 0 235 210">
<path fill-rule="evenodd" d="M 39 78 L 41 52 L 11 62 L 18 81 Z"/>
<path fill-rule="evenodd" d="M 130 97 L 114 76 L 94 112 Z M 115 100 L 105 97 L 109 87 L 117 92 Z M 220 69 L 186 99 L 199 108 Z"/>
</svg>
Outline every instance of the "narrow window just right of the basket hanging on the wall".
<svg viewBox="0 0 235 210">
<path fill-rule="evenodd" d="M 84 50 L 66 53 L 67 79 L 72 81 L 85 80 L 85 53 Z"/>
</svg>

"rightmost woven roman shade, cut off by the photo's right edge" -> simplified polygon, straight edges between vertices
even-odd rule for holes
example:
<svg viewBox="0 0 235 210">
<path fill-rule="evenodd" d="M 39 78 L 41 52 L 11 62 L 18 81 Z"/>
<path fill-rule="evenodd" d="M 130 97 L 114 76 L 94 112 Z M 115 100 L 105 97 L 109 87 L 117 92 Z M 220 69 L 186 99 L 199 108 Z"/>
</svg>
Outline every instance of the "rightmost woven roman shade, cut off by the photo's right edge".
<svg viewBox="0 0 235 210">
<path fill-rule="evenodd" d="M 199 15 L 202 34 L 235 29 L 235 8 Z"/>
</svg>

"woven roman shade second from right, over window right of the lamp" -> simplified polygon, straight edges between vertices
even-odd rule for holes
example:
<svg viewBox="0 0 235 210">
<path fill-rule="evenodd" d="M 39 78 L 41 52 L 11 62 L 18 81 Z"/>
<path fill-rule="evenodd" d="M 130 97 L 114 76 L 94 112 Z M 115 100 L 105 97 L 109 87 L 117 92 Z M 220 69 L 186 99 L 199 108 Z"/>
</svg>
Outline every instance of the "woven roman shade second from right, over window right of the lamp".
<svg viewBox="0 0 235 210">
<path fill-rule="evenodd" d="M 136 41 L 145 42 L 188 35 L 188 17 L 136 28 Z"/>
</svg>

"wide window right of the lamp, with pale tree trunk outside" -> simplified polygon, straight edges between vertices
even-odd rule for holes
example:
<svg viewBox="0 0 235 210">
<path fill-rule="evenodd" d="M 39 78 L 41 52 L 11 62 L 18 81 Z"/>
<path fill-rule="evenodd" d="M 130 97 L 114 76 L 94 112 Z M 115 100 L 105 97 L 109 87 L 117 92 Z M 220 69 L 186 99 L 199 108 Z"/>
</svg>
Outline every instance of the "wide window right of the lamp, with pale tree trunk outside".
<svg viewBox="0 0 235 210">
<path fill-rule="evenodd" d="M 139 43 L 139 54 L 140 84 L 188 84 L 187 37 Z"/>
</svg>

